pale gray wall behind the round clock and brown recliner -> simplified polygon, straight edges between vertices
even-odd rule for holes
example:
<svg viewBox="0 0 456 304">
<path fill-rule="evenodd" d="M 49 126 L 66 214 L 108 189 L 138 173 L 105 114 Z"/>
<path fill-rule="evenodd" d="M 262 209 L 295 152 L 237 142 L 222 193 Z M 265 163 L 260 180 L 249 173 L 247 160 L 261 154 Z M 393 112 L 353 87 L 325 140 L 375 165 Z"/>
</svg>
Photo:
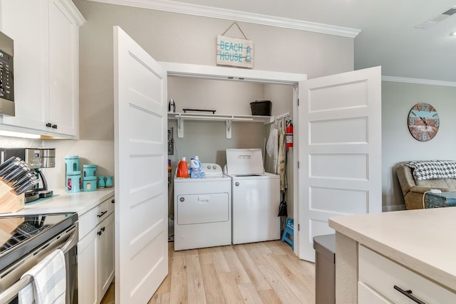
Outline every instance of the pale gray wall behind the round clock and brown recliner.
<svg viewBox="0 0 456 304">
<path fill-rule="evenodd" d="M 456 159 L 456 88 L 382 82 L 383 210 L 405 208 L 393 166 L 413 159 Z M 408 113 L 417 103 L 430 103 L 440 116 L 440 129 L 428 142 L 408 131 Z"/>
</svg>

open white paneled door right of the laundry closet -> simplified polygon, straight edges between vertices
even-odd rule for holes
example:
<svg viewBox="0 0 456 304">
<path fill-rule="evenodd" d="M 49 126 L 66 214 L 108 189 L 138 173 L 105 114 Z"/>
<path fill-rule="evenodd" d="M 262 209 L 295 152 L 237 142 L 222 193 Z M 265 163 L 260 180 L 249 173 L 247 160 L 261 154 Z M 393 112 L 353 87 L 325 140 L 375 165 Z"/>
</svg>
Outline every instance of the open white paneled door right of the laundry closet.
<svg viewBox="0 0 456 304">
<path fill-rule="evenodd" d="M 299 83 L 299 256 L 330 216 L 381 212 L 380 67 Z"/>
</svg>

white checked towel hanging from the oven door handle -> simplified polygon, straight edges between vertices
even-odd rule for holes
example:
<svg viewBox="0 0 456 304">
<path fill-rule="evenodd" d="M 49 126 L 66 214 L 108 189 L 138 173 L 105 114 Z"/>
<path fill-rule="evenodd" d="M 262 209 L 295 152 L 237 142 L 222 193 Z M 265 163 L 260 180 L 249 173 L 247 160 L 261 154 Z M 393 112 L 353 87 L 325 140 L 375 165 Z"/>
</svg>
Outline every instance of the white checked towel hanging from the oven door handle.
<svg viewBox="0 0 456 304">
<path fill-rule="evenodd" d="M 46 256 L 24 276 L 33 281 L 19 291 L 19 304 L 64 304 L 66 299 L 65 255 L 57 249 Z"/>
</svg>

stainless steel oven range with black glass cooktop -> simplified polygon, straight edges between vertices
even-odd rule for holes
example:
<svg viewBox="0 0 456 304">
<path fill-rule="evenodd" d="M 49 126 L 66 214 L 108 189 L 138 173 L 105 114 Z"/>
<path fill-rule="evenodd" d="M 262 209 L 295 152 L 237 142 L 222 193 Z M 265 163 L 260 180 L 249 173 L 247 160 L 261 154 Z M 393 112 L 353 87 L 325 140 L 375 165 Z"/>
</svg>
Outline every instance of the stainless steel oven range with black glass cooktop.
<svg viewBox="0 0 456 304">
<path fill-rule="evenodd" d="M 17 303 L 33 279 L 21 276 L 60 248 L 66 262 L 66 303 L 78 303 L 78 215 L 0 217 L 0 303 Z"/>
</svg>

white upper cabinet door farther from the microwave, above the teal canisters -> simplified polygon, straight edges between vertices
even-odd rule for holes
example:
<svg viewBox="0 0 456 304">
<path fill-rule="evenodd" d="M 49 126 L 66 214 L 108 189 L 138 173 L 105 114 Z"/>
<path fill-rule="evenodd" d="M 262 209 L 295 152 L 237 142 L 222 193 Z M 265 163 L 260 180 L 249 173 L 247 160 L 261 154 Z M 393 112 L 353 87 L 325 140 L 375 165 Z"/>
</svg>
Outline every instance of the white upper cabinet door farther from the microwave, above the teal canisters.
<svg viewBox="0 0 456 304">
<path fill-rule="evenodd" d="M 78 135 L 79 27 L 59 0 L 49 2 L 50 132 Z"/>
</svg>

